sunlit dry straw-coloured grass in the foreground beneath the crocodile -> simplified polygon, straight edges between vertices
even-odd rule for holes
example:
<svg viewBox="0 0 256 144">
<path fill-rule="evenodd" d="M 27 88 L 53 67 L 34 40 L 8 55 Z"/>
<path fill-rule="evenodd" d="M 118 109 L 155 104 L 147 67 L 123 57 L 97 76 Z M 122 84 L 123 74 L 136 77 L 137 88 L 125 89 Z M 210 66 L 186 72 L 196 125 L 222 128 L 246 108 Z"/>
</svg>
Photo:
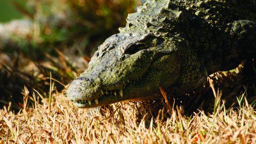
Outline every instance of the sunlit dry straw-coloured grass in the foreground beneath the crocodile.
<svg viewBox="0 0 256 144">
<path fill-rule="evenodd" d="M 212 91 L 213 111 L 187 116 L 181 106 L 163 101 L 78 109 L 63 92 L 50 92 L 50 109 L 49 99 L 25 87 L 19 113 L 0 110 L 0 143 L 256 143 L 255 108 L 243 94 L 239 107 L 226 108 L 221 92 Z"/>
</svg>

